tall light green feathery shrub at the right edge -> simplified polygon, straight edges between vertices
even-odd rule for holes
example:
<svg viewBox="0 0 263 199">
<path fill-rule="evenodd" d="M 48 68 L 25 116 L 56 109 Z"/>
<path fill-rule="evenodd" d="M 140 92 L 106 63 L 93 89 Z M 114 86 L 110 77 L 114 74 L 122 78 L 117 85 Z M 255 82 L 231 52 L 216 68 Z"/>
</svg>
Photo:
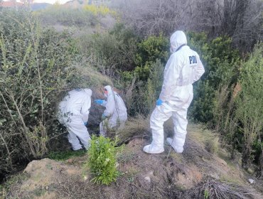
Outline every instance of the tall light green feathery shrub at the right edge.
<svg viewBox="0 0 263 199">
<path fill-rule="evenodd" d="M 220 87 L 215 97 L 216 130 L 230 145 L 232 158 L 236 151 L 242 152 L 244 168 L 262 153 L 262 49 L 262 44 L 254 48 L 252 55 L 241 63 L 237 83 Z"/>
</svg>

